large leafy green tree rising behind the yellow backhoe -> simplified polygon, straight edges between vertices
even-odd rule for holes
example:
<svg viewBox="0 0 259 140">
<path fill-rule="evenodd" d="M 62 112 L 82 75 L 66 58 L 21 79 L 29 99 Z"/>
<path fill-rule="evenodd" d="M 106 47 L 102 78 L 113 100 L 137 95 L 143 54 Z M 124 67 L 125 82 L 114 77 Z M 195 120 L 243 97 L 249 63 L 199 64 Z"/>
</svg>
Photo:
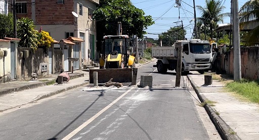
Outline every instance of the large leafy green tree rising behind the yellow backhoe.
<svg viewBox="0 0 259 140">
<path fill-rule="evenodd" d="M 97 49 L 100 50 L 104 35 L 116 35 L 118 22 L 122 24 L 122 34 L 138 35 L 142 38 L 148 26 L 154 24 L 151 16 L 144 16 L 143 10 L 132 5 L 130 0 L 101 0 L 93 13 L 97 24 Z"/>
</svg>

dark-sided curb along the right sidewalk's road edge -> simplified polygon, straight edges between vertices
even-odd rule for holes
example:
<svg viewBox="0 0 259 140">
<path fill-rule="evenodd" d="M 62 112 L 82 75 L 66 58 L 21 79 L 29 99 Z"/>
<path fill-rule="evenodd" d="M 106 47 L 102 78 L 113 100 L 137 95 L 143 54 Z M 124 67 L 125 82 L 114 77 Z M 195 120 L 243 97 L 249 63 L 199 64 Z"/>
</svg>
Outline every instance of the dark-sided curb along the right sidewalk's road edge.
<svg viewBox="0 0 259 140">
<path fill-rule="evenodd" d="M 190 81 L 195 93 L 197 94 L 199 100 L 203 103 L 204 101 L 206 101 L 206 97 L 201 95 L 200 93 L 201 90 L 198 88 L 198 86 L 192 81 L 192 79 L 190 79 L 189 75 L 187 75 L 188 80 Z M 213 122 L 213 124 L 215 125 L 216 129 L 219 131 L 222 139 L 224 140 L 237 140 L 237 135 L 236 134 L 231 134 L 230 131 L 233 131 L 229 125 L 219 116 L 217 115 L 216 111 L 211 108 L 208 104 L 204 105 L 204 108 L 207 112 L 207 114 L 209 115 L 209 118 L 211 119 L 211 121 Z"/>
</svg>

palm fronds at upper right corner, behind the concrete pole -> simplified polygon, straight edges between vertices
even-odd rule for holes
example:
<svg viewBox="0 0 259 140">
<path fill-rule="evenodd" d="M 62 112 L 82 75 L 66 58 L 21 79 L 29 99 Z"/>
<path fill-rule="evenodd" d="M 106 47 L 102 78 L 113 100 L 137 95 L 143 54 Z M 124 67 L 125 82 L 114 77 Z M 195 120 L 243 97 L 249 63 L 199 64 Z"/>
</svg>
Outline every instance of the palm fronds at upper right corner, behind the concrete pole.
<svg viewBox="0 0 259 140">
<path fill-rule="evenodd" d="M 256 25 L 249 31 L 244 40 L 247 45 L 258 44 L 259 42 L 259 0 L 248 1 L 240 8 L 240 28 L 247 26 L 249 23 Z"/>
</svg>

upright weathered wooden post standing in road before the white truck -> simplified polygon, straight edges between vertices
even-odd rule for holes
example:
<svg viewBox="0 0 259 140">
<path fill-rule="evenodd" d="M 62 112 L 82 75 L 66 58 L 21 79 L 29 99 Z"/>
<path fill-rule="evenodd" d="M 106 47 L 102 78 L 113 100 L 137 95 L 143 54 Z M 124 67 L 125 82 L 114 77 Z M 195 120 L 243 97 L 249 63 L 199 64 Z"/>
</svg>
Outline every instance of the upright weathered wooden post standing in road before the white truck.
<svg viewBox="0 0 259 140">
<path fill-rule="evenodd" d="M 183 46 L 182 46 L 182 42 L 177 42 L 176 43 L 176 48 L 178 48 L 178 52 L 177 52 L 177 67 L 176 67 L 176 87 L 180 87 L 180 83 L 181 83 L 181 69 L 182 69 L 182 51 L 183 51 Z"/>
</svg>

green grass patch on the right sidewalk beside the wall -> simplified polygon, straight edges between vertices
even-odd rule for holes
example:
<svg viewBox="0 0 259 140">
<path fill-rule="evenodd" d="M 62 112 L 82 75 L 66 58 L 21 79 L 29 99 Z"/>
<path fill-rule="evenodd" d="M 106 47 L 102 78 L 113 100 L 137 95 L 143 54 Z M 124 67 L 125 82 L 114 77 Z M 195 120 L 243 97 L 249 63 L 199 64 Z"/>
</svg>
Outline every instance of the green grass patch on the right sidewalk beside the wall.
<svg viewBox="0 0 259 140">
<path fill-rule="evenodd" d="M 248 99 L 250 102 L 259 103 L 259 81 L 242 79 L 237 82 L 227 83 L 227 89 Z"/>
</svg>

